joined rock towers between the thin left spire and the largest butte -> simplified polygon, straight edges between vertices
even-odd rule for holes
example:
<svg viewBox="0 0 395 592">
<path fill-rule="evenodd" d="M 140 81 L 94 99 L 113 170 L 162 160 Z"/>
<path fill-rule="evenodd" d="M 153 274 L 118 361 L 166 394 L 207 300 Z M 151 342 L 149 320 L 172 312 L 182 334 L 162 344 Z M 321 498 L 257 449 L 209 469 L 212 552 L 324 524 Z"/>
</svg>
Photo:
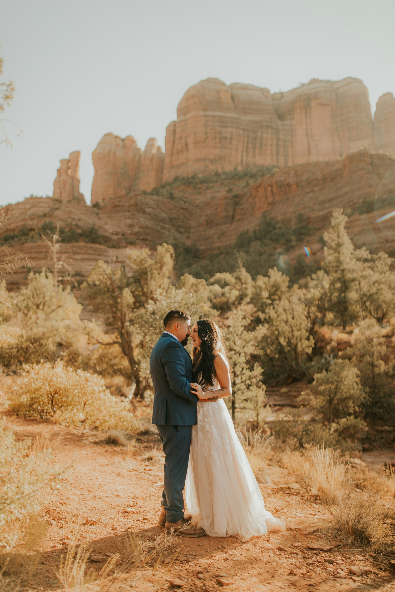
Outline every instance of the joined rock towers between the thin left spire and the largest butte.
<svg viewBox="0 0 395 592">
<path fill-rule="evenodd" d="M 155 138 L 150 138 L 142 151 L 133 136 L 105 134 L 92 153 L 92 161 L 92 204 L 132 191 L 150 191 L 162 182 L 164 154 Z"/>
</svg>

